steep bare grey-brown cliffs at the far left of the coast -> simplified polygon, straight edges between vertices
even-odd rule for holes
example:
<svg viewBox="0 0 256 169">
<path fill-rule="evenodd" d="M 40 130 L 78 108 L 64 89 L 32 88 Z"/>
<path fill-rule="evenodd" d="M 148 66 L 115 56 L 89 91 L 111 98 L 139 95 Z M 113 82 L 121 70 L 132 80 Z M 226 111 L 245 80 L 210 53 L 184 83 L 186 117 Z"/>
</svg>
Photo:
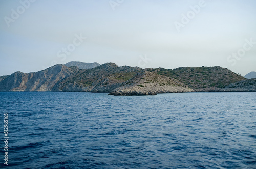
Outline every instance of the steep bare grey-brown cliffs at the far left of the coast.
<svg viewBox="0 0 256 169">
<path fill-rule="evenodd" d="M 15 72 L 0 81 L 0 91 L 52 91 L 58 81 L 72 72 L 72 68 L 64 65 L 54 65 L 33 73 Z"/>
</svg>

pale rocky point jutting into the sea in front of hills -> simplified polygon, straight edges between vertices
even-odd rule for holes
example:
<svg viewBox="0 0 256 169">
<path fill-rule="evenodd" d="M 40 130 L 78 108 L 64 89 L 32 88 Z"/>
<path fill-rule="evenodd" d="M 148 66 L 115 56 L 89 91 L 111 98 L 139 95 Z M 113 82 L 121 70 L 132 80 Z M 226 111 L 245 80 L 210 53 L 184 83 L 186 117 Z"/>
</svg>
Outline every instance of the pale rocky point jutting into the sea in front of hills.
<svg viewBox="0 0 256 169">
<path fill-rule="evenodd" d="M 156 95 L 157 93 L 194 92 L 183 83 L 146 70 L 122 83 L 110 95 Z"/>
</svg>

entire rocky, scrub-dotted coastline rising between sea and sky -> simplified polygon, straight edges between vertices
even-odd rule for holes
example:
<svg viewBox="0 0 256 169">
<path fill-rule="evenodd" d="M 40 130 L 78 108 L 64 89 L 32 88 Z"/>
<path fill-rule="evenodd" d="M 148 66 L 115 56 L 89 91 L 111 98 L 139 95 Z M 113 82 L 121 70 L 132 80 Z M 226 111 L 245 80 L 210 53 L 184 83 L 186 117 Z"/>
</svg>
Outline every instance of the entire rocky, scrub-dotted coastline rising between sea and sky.
<svg viewBox="0 0 256 169">
<path fill-rule="evenodd" d="M 256 78 L 246 79 L 220 66 L 142 69 L 73 61 L 39 72 L 1 76 L 0 91 L 108 92 L 110 95 L 256 91 Z"/>
</svg>

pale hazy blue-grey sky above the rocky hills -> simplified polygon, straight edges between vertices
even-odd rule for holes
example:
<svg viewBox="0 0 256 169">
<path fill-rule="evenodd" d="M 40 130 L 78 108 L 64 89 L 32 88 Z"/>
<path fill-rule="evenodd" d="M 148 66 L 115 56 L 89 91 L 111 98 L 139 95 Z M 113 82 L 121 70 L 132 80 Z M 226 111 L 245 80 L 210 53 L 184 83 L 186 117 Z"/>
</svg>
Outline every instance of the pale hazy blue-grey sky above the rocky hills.
<svg viewBox="0 0 256 169">
<path fill-rule="evenodd" d="M 70 61 L 256 71 L 254 0 L 0 1 L 0 76 Z"/>
</svg>

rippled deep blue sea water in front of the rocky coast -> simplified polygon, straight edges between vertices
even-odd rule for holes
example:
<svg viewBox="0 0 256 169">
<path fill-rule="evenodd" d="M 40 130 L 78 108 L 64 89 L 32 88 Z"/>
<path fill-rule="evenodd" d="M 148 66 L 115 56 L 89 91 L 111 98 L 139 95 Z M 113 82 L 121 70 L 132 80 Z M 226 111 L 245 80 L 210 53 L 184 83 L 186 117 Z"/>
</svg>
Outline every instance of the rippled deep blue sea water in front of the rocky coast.
<svg viewBox="0 0 256 169">
<path fill-rule="evenodd" d="M 256 92 L 0 92 L 10 168 L 256 168 Z"/>
</svg>

